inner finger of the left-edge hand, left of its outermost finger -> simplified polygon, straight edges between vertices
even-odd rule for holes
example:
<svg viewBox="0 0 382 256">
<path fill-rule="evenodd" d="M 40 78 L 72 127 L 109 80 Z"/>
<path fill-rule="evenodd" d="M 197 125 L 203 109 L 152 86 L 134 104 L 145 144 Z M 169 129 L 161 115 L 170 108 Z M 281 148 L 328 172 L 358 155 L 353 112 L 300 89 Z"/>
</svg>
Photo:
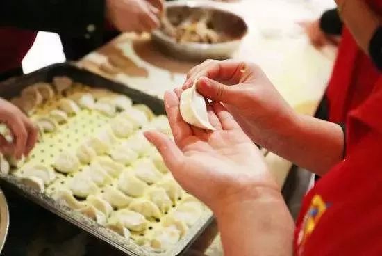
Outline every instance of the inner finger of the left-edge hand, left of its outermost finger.
<svg viewBox="0 0 382 256">
<path fill-rule="evenodd" d="M 22 122 L 22 118 L 12 118 L 6 122 L 6 125 L 8 125 L 13 134 L 15 157 L 16 159 L 20 159 L 25 151 L 26 139 L 28 136 L 24 122 Z"/>
</svg>

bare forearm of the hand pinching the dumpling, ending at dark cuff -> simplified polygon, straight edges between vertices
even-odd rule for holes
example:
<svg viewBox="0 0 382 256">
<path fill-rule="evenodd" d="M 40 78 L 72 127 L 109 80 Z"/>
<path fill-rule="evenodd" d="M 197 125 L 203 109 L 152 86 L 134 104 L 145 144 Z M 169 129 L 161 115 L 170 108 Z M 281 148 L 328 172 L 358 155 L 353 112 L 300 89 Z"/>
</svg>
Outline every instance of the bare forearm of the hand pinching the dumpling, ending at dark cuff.
<svg viewBox="0 0 382 256">
<path fill-rule="evenodd" d="M 317 175 L 324 175 L 343 159 L 344 133 L 335 123 L 295 115 L 269 132 L 272 136 L 264 145 L 268 150 Z"/>
</svg>

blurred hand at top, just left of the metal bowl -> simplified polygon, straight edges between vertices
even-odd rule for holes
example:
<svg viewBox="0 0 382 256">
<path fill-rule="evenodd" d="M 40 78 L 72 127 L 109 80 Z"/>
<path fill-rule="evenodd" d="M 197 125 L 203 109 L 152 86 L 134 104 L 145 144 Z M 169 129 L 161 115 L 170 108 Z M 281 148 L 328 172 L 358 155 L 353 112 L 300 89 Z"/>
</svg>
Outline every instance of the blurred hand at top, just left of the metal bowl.
<svg viewBox="0 0 382 256">
<path fill-rule="evenodd" d="M 159 15 L 160 10 L 163 9 L 163 2 L 161 0 L 107 0 L 106 9 L 108 19 L 119 31 L 142 33 L 160 26 Z"/>
</svg>

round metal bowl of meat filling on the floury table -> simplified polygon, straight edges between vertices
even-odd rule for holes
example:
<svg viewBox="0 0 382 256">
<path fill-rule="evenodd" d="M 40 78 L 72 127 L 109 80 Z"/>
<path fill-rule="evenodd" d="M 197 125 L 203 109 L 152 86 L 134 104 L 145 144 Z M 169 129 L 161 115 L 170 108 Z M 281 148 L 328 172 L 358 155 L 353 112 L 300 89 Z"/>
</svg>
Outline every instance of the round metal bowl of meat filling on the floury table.
<svg viewBox="0 0 382 256">
<path fill-rule="evenodd" d="M 160 29 L 152 39 L 174 58 L 203 61 L 230 58 L 247 34 L 244 19 L 219 3 L 167 3 Z"/>
</svg>

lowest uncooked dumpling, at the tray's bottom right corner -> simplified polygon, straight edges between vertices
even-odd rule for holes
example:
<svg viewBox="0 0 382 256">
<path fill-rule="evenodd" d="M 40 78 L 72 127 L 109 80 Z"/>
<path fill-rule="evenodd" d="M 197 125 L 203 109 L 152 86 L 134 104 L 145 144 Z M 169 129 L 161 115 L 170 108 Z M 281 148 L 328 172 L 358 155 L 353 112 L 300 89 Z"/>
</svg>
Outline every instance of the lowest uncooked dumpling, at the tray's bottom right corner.
<svg viewBox="0 0 382 256">
<path fill-rule="evenodd" d="M 158 250 L 171 248 L 181 239 L 181 232 L 174 226 L 165 227 L 162 230 L 156 230 L 153 233 L 151 247 Z"/>
</svg>

